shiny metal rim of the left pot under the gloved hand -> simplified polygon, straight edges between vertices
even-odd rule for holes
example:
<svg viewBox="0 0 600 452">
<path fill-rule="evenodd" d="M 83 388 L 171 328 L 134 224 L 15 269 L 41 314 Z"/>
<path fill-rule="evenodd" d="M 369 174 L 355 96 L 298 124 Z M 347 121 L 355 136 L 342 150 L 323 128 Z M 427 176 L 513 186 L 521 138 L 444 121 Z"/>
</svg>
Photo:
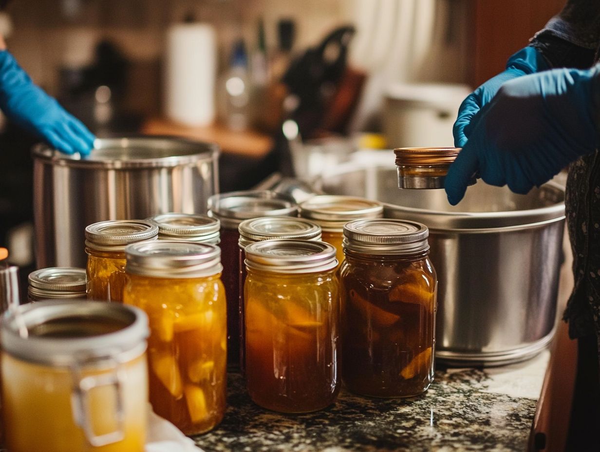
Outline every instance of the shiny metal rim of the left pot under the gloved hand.
<svg viewBox="0 0 600 452">
<path fill-rule="evenodd" d="M 109 148 L 135 148 L 149 147 L 153 149 L 182 150 L 182 155 L 169 155 L 166 157 L 132 158 L 122 160 L 119 158 L 94 158 L 91 155 L 81 158 L 79 154 L 64 154 L 56 151 L 52 146 L 38 143 L 32 148 L 32 155 L 36 160 L 43 160 L 55 166 L 65 166 L 82 169 L 137 169 L 137 168 L 165 168 L 185 164 L 197 163 L 199 161 L 216 161 L 220 154 L 216 143 L 202 142 L 179 136 L 167 135 L 127 135 L 119 137 L 97 138 L 94 141 L 94 149 Z"/>
</svg>

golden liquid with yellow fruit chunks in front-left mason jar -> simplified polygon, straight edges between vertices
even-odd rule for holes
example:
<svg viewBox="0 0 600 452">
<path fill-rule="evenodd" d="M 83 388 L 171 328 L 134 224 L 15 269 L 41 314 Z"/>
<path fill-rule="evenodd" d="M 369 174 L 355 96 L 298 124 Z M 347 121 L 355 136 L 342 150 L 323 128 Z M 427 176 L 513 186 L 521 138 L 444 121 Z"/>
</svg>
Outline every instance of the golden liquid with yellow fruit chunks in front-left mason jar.
<svg viewBox="0 0 600 452">
<path fill-rule="evenodd" d="M 220 274 L 128 274 L 124 302 L 148 315 L 150 403 L 186 435 L 208 432 L 226 408 L 226 303 Z"/>
</svg>

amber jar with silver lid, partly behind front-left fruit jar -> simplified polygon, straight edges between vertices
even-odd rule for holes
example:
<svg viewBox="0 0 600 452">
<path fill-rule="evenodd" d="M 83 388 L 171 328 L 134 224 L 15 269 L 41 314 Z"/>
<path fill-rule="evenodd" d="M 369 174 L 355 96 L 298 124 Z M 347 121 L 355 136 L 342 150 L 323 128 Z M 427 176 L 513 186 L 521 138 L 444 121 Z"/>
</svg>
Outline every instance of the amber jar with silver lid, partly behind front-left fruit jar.
<svg viewBox="0 0 600 452">
<path fill-rule="evenodd" d="M 121 301 L 125 286 L 125 246 L 156 240 L 158 228 L 148 221 L 109 220 L 85 228 L 88 253 L 88 300 Z"/>
</svg>

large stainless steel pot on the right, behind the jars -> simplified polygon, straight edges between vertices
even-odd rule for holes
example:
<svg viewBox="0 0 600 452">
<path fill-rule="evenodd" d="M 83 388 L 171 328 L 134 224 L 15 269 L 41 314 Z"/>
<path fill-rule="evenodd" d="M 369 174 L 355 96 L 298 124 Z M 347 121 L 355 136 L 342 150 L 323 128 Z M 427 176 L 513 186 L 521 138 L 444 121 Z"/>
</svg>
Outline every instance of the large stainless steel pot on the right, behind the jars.
<svg viewBox="0 0 600 452">
<path fill-rule="evenodd" d="M 520 195 L 480 181 L 451 206 L 443 190 L 397 188 L 393 166 L 347 165 L 317 188 L 377 199 L 386 203 L 385 217 L 427 224 L 439 278 L 438 360 L 513 363 L 552 339 L 565 223 L 560 185 Z"/>
</svg>

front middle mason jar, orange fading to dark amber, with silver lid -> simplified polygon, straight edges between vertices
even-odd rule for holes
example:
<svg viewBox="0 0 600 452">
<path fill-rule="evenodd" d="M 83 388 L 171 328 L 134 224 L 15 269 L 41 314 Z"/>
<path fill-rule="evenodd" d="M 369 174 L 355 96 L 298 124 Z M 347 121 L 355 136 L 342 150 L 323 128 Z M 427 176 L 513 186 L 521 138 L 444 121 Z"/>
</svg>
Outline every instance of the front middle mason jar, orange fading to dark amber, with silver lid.
<svg viewBox="0 0 600 452">
<path fill-rule="evenodd" d="M 248 245 L 245 253 L 245 375 L 251 399 L 288 413 L 331 405 L 340 390 L 335 248 L 266 240 Z"/>
</svg>

